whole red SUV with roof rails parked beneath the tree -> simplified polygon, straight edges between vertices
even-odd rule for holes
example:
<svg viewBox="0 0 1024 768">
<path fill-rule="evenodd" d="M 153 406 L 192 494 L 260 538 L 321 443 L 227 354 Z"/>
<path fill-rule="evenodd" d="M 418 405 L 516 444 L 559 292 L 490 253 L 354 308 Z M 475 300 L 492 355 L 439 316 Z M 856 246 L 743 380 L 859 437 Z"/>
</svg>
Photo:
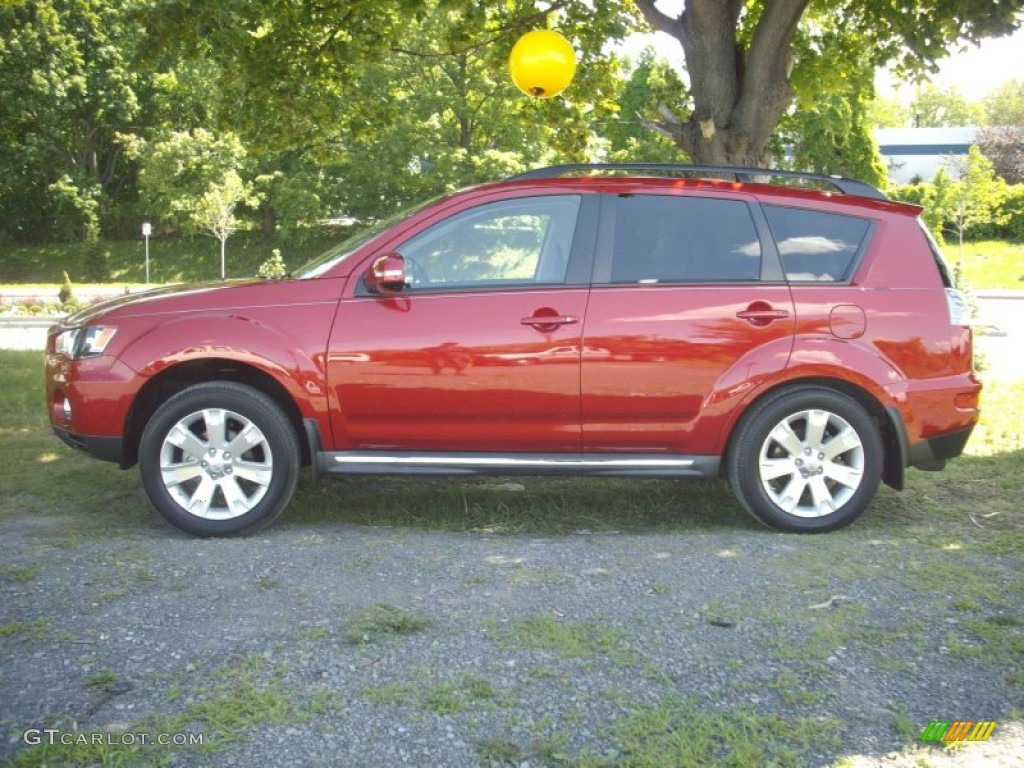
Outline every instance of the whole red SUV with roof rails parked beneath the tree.
<svg viewBox="0 0 1024 768">
<path fill-rule="evenodd" d="M 725 475 L 758 520 L 831 530 L 880 481 L 941 469 L 978 419 L 965 302 L 919 214 L 775 170 L 540 169 L 287 280 L 68 317 L 50 420 L 137 463 L 164 517 L 204 537 L 273 520 L 303 464 Z"/>
</svg>

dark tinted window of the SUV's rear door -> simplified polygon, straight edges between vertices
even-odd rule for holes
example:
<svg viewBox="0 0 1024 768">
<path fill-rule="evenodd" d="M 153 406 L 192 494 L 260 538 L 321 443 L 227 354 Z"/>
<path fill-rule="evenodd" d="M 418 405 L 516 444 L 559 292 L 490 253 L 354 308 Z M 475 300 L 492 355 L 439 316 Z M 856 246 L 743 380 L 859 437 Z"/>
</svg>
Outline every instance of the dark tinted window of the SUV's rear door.
<svg viewBox="0 0 1024 768">
<path fill-rule="evenodd" d="M 618 198 L 612 283 L 735 283 L 760 275 L 761 241 L 745 203 Z"/>
</svg>

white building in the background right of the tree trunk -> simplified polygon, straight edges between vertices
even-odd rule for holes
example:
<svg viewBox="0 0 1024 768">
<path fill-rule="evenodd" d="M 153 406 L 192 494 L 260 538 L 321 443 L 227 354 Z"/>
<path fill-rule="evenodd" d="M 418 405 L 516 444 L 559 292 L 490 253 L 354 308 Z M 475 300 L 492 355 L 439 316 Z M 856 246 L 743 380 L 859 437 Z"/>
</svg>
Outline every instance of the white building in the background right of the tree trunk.
<svg viewBox="0 0 1024 768">
<path fill-rule="evenodd" d="M 959 171 L 950 162 L 958 156 L 966 157 L 974 143 L 977 128 L 879 128 L 874 140 L 879 142 L 882 159 L 889 169 L 889 180 L 909 184 L 915 179 L 931 181 L 940 166 L 952 178 L 959 178 Z"/>
</svg>

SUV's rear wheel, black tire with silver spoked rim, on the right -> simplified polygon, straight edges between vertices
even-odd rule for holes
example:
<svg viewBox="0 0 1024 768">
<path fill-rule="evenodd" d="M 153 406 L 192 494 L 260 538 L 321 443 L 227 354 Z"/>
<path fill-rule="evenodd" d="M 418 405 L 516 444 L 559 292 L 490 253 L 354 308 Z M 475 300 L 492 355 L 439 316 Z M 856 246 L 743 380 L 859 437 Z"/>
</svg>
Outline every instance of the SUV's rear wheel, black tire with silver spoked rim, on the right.
<svg viewBox="0 0 1024 768">
<path fill-rule="evenodd" d="M 867 509 L 883 451 L 874 419 L 856 400 L 821 387 L 787 389 L 754 404 L 736 425 L 729 483 L 762 523 L 820 534 Z"/>
</svg>

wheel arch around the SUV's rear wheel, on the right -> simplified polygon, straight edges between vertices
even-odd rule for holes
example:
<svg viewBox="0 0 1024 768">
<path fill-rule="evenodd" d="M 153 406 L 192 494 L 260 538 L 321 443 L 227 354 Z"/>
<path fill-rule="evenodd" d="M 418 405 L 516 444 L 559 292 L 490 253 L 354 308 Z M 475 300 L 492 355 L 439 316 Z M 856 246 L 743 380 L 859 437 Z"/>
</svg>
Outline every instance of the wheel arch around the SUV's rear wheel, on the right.
<svg viewBox="0 0 1024 768">
<path fill-rule="evenodd" d="M 898 413 L 894 416 L 892 409 L 887 409 L 882 401 L 867 389 L 845 379 L 836 379 L 828 376 L 805 376 L 799 379 L 787 379 L 778 382 L 774 386 L 765 389 L 751 400 L 743 403 L 743 408 L 738 411 L 735 418 L 729 424 L 728 437 L 723 451 L 724 461 L 722 471 L 726 471 L 729 462 L 732 461 L 733 443 L 739 430 L 736 427 L 741 422 L 743 415 L 752 408 L 768 398 L 774 398 L 785 392 L 800 389 L 818 388 L 829 389 L 839 392 L 856 401 L 867 412 L 879 427 L 879 434 L 882 437 L 884 456 L 882 459 L 882 481 L 897 490 L 903 488 L 904 468 L 906 466 L 906 431 L 901 422 L 896 422 Z"/>
</svg>

